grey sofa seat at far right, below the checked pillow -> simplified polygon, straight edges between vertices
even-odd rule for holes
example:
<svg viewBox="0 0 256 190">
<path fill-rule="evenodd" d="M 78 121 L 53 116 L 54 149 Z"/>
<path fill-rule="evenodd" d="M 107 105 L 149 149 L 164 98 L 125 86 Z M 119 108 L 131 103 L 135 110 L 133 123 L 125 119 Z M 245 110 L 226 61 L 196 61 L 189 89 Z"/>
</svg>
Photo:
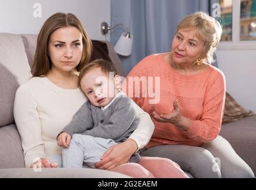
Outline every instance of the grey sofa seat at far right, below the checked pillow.
<svg viewBox="0 0 256 190">
<path fill-rule="evenodd" d="M 256 173 L 256 115 L 222 125 L 220 135 Z"/>
</svg>

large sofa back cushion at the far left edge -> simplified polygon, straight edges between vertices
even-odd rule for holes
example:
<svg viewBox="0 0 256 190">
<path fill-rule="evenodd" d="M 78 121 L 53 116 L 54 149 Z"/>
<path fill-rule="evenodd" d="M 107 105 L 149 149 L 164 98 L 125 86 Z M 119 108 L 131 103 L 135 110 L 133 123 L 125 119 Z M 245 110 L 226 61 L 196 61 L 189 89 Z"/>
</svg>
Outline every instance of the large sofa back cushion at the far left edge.
<svg viewBox="0 0 256 190">
<path fill-rule="evenodd" d="M 31 77 L 22 39 L 0 33 L 0 127 L 14 123 L 13 105 L 18 86 Z"/>
</svg>

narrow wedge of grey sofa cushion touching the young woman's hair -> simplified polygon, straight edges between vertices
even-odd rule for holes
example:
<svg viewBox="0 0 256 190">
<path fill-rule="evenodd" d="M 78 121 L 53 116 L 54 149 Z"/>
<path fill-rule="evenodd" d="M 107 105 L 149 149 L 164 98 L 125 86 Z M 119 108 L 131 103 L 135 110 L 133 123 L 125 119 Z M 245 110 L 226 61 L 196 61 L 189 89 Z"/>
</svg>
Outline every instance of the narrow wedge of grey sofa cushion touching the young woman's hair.
<svg viewBox="0 0 256 190">
<path fill-rule="evenodd" d="M 31 67 L 33 63 L 33 59 L 36 52 L 36 40 L 38 38 L 37 34 L 21 34 L 25 51 L 27 54 L 27 60 L 29 61 L 29 65 Z"/>
</svg>

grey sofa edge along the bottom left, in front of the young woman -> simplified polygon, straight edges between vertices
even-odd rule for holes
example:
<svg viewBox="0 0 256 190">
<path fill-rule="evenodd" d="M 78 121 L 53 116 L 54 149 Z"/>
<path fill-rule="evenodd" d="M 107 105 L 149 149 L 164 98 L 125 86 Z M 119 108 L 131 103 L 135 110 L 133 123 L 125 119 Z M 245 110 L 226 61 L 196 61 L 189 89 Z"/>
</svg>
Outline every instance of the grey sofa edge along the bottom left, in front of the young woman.
<svg viewBox="0 0 256 190">
<path fill-rule="evenodd" d="M 0 169 L 0 178 L 131 178 L 121 173 L 99 169 L 43 168 L 42 172 L 33 169 Z M 87 189 L 87 188 L 85 188 Z"/>
</svg>

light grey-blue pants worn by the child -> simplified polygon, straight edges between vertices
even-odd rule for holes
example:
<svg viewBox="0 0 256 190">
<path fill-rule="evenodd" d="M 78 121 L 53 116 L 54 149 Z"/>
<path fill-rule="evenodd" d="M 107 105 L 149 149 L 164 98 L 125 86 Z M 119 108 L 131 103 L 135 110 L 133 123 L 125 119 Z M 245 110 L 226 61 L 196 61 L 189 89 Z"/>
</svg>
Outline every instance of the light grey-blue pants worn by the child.
<svg viewBox="0 0 256 190">
<path fill-rule="evenodd" d="M 95 168 L 103 154 L 113 145 L 112 139 L 92 137 L 90 135 L 73 134 L 69 148 L 62 149 L 63 167 Z"/>
</svg>

